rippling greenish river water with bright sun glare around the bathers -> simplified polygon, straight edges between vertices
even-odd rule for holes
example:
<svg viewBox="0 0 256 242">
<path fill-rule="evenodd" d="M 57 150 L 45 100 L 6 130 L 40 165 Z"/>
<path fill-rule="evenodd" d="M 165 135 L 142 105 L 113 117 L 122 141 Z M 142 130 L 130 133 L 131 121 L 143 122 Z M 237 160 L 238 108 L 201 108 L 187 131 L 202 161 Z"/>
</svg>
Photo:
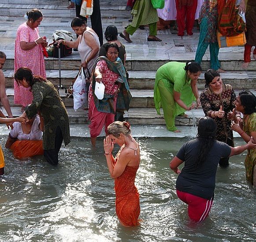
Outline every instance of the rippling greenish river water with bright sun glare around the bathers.
<svg viewBox="0 0 256 242">
<path fill-rule="evenodd" d="M 3 147 L 4 138 L 0 141 Z M 255 241 L 256 192 L 245 181 L 245 154 L 231 158 L 228 169 L 218 169 L 208 219 L 201 224 L 189 221 L 186 205 L 175 193 L 177 175 L 169 169 L 185 141 L 139 139 L 136 185 L 143 221 L 135 228 L 120 226 L 115 215 L 114 182 L 101 141 L 91 149 L 89 139 L 72 140 L 62 147 L 58 167 L 39 157 L 18 161 L 4 149 L 0 241 Z"/>
</svg>

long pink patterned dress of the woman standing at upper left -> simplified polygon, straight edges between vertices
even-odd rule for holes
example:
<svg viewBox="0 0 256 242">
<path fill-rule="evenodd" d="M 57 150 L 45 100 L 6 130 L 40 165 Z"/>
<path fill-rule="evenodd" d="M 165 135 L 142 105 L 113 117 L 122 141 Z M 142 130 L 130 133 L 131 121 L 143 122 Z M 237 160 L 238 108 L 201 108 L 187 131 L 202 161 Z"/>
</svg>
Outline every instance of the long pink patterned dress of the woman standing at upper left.
<svg viewBox="0 0 256 242">
<path fill-rule="evenodd" d="M 35 76 L 41 76 L 46 78 L 45 72 L 45 59 L 42 52 L 41 44 L 38 44 L 31 50 L 24 51 L 20 47 L 20 42 L 33 42 L 39 38 L 38 28 L 31 29 L 26 23 L 19 26 L 17 30 L 17 37 L 15 40 L 15 55 L 14 55 L 14 71 L 20 67 L 28 67 L 32 70 Z M 22 106 L 27 106 L 32 103 L 33 96 L 29 90 L 30 88 L 24 88 L 18 86 L 16 81 L 14 82 L 14 103 Z"/>
</svg>

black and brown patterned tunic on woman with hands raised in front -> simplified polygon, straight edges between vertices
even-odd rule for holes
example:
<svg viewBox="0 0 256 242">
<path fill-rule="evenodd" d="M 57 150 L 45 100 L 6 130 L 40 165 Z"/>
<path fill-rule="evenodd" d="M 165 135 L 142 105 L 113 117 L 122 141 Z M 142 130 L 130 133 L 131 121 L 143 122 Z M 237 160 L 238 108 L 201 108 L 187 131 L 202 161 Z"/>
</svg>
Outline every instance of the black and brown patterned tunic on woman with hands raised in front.
<svg viewBox="0 0 256 242">
<path fill-rule="evenodd" d="M 223 107 L 225 115 L 223 118 L 215 117 L 217 125 L 216 139 L 227 143 L 227 139 L 230 139 L 234 147 L 233 132 L 231 129 L 231 121 L 227 119 L 228 112 L 234 109 L 234 101 L 236 95 L 232 86 L 229 84 L 223 84 L 223 92 L 216 94 L 212 92 L 211 88 L 205 89 L 200 95 L 200 102 L 204 110 L 205 116 L 211 117 L 213 111 L 219 111 L 220 106 Z"/>
</svg>

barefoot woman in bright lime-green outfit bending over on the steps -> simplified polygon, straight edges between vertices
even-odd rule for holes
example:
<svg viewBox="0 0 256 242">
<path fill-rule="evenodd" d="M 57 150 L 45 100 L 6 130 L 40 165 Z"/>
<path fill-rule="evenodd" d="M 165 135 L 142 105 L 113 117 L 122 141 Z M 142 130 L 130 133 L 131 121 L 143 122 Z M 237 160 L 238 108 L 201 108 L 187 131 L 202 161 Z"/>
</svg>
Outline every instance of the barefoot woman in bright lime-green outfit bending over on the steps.
<svg viewBox="0 0 256 242">
<path fill-rule="evenodd" d="M 202 71 L 197 62 L 168 62 L 156 71 L 154 101 L 157 114 L 163 108 L 167 129 L 180 132 L 175 127 L 175 116 L 186 116 L 184 112 L 194 107 L 193 100 L 200 105 L 197 79 Z"/>
</svg>

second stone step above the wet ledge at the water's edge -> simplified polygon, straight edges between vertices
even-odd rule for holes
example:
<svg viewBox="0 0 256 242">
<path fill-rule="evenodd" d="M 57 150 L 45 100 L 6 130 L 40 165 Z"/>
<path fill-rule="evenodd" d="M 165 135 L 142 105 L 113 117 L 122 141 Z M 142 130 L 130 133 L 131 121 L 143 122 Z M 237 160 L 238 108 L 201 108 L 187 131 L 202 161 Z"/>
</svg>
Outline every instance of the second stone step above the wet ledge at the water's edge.
<svg viewBox="0 0 256 242">
<path fill-rule="evenodd" d="M 254 95 L 256 95 L 256 90 L 254 89 L 249 89 Z M 235 89 L 236 95 L 241 90 Z M 67 98 L 65 96 L 64 90 L 60 89 L 60 96 L 63 100 L 63 103 L 66 107 L 73 107 L 73 99 Z M 130 108 L 155 108 L 154 104 L 154 90 L 141 90 L 141 89 L 131 89 L 130 90 L 132 99 L 130 102 Z M 198 90 L 199 95 L 202 92 L 202 90 Z M 14 88 L 7 88 L 6 94 L 8 96 L 8 100 L 11 106 L 17 106 L 14 104 Z M 138 113 L 139 114 L 139 113 Z"/>
</svg>

